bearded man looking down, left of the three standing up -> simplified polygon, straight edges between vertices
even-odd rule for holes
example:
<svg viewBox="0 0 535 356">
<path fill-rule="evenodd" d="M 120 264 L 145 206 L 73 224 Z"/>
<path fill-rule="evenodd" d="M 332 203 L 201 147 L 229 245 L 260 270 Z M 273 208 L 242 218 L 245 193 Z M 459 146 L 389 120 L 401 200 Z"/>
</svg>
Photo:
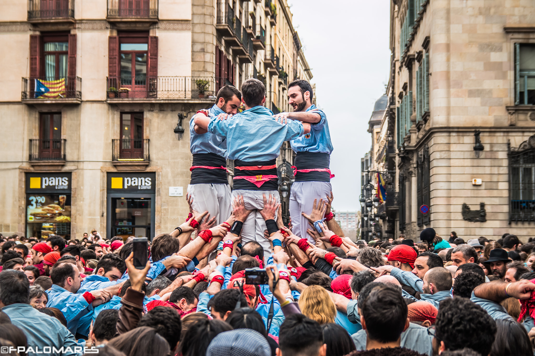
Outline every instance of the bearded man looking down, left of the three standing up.
<svg viewBox="0 0 535 356">
<path fill-rule="evenodd" d="M 209 110 L 192 116 L 189 121 L 189 145 L 193 154 L 192 180 L 188 194 L 193 196 L 195 211 L 207 211 L 221 224 L 232 212 L 231 189 L 227 179 L 225 137 L 213 135 L 195 124 L 196 116 L 236 114 L 241 105 L 241 93 L 232 85 L 225 85 L 217 93 L 216 104 Z"/>
</svg>

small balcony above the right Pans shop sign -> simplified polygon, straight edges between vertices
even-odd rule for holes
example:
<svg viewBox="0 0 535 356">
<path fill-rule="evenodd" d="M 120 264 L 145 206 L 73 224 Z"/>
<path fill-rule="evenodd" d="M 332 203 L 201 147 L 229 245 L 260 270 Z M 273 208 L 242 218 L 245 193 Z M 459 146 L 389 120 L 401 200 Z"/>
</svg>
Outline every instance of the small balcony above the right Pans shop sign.
<svg viewBox="0 0 535 356">
<path fill-rule="evenodd" d="M 149 139 L 112 139 L 111 155 L 117 170 L 144 170 L 150 163 Z"/>
</svg>

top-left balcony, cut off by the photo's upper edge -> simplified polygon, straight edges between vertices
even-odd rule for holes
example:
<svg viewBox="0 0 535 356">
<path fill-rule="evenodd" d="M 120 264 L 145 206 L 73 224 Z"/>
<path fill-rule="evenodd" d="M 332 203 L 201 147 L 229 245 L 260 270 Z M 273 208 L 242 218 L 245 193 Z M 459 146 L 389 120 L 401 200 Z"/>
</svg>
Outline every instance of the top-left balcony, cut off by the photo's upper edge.
<svg viewBox="0 0 535 356">
<path fill-rule="evenodd" d="M 74 0 L 28 0 L 28 22 L 74 22 Z"/>
</svg>

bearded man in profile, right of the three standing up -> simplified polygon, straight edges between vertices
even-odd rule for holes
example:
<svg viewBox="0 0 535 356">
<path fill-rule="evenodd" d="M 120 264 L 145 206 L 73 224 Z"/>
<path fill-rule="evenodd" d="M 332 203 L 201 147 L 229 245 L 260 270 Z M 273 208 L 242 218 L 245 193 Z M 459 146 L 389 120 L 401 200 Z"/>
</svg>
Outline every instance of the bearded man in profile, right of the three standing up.
<svg viewBox="0 0 535 356">
<path fill-rule="evenodd" d="M 329 163 L 333 146 L 325 113 L 312 104 L 312 87 L 310 83 L 299 79 L 288 85 L 288 103 L 293 106 L 293 113 L 275 115 L 277 120 L 291 119 L 310 123 L 307 135 L 290 141 L 295 156 L 295 183 L 290 192 L 290 216 L 293 231 L 302 239 L 314 239 L 307 233 L 308 220 L 301 212 L 310 215 L 315 199 L 319 201 L 331 195 L 331 170 Z M 330 219 L 329 219 L 330 220 Z"/>
</svg>

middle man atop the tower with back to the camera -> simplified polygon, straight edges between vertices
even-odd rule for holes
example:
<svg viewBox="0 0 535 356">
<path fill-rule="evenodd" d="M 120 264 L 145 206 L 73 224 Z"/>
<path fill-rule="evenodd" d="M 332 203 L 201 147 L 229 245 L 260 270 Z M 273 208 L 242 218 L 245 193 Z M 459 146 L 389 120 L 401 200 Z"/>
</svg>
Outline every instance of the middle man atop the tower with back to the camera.
<svg viewBox="0 0 535 356">
<path fill-rule="evenodd" d="M 259 210 L 264 208 L 264 198 L 270 194 L 280 202 L 276 160 L 284 141 L 293 140 L 310 132 L 309 123 L 289 121 L 281 124 L 274 120 L 265 102 L 265 87 L 257 79 L 243 82 L 242 102 L 246 110 L 228 120 L 217 117 L 195 116 L 195 125 L 227 140 L 227 157 L 234 160 L 233 199 L 243 196 L 249 214 L 241 231 L 242 243 L 256 241 L 265 254 L 271 252 L 270 243 L 264 238 L 266 224 Z M 271 231 L 274 232 L 274 231 Z"/>
</svg>

